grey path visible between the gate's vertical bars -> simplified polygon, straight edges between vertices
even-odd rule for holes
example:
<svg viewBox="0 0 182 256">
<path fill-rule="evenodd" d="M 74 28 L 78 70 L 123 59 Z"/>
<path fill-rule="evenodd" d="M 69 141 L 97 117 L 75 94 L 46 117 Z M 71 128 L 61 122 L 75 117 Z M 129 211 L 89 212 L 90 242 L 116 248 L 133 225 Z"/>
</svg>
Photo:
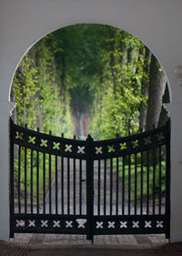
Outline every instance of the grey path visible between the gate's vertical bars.
<svg viewBox="0 0 182 256">
<path fill-rule="evenodd" d="M 67 167 L 69 161 L 69 169 Z M 75 168 L 74 168 L 75 161 Z M 98 169 L 98 161 L 95 160 L 94 165 L 94 214 L 95 215 L 122 215 L 128 214 L 128 184 L 126 176 L 126 185 L 123 189 L 123 179 L 118 177 L 118 185 L 116 185 L 116 170 L 110 173 L 109 160 L 100 161 L 100 170 Z M 127 171 L 127 170 L 126 170 Z M 63 173 L 63 175 L 62 175 Z M 74 178 L 75 176 L 75 178 Z M 63 178 L 63 182 L 62 182 Z M 112 185 L 111 185 L 112 182 Z M 99 183 L 99 185 L 98 185 Z M 64 185 L 64 186 L 62 186 Z M 99 187 L 98 187 L 99 186 Z M 116 195 L 116 186 L 118 186 L 118 192 Z M 111 188 L 112 187 L 112 188 Z M 82 162 L 82 170 L 80 173 L 80 160 L 79 159 L 64 159 L 64 169 L 61 169 L 61 164 L 57 173 L 57 191 L 56 191 L 56 179 L 52 182 L 51 199 L 52 199 L 52 213 L 56 213 L 56 193 L 58 200 L 58 214 L 86 214 L 86 161 Z M 123 195 L 124 194 L 124 195 Z M 49 191 L 46 193 L 46 206 L 45 213 L 49 213 Z M 118 196 L 118 209 L 116 212 L 116 200 Z M 124 203 L 123 203 L 124 200 Z M 63 204 L 62 204 L 63 202 Z M 130 204 L 130 214 L 135 214 L 134 199 Z M 64 205 L 64 209 L 62 206 Z M 112 212 L 111 212 L 112 205 Z M 125 209 L 122 209 L 122 205 Z M 105 210 L 106 208 L 106 210 Z M 144 214 L 147 214 L 147 201 L 143 201 Z M 152 197 L 149 201 L 149 213 L 153 211 Z M 140 197 L 137 199 L 137 213 L 140 212 Z M 165 212 L 165 200 L 163 200 L 162 210 Z M 158 201 L 156 201 L 156 213 L 158 213 Z"/>
</svg>

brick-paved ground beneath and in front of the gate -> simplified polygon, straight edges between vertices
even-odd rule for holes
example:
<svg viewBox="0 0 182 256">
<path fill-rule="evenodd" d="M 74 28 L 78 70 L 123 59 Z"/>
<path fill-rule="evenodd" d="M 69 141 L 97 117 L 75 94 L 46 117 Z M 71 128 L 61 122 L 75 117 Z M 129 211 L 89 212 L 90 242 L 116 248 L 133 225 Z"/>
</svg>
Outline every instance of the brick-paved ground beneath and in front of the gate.
<svg viewBox="0 0 182 256">
<path fill-rule="evenodd" d="M 164 235 L 97 236 L 92 245 L 84 236 L 16 234 L 0 241 L 0 256 L 182 256 L 182 243 Z"/>
</svg>

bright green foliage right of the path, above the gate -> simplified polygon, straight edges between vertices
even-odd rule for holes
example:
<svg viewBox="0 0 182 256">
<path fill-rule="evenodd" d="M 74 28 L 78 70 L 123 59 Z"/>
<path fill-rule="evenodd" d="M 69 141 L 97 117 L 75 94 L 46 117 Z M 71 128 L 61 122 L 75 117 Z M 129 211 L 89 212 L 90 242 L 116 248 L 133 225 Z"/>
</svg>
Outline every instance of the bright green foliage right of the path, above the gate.
<svg viewBox="0 0 182 256">
<path fill-rule="evenodd" d="M 113 37 L 106 38 L 112 50 L 101 52 L 103 79 L 101 89 L 96 90 L 90 124 L 90 133 L 99 139 L 115 138 L 116 133 L 126 136 L 128 130 L 136 132 L 139 110 L 147 106 L 147 98 L 142 92 L 142 79 L 148 77 L 143 68 L 144 45 L 126 32 L 107 29 L 113 30 Z M 121 45 L 124 45 L 123 52 Z"/>
</svg>

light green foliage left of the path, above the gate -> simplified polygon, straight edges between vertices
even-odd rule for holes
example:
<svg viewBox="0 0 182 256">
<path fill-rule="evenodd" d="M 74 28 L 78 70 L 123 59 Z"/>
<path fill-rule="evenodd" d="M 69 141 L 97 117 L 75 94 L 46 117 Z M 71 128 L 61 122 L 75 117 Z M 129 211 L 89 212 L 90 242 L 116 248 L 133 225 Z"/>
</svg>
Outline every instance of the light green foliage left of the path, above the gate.
<svg viewBox="0 0 182 256">
<path fill-rule="evenodd" d="M 55 135 L 72 137 L 73 125 L 69 107 L 70 97 L 60 95 L 60 81 L 56 73 L 53 36 L 45 36 L 20 63 L 14 78 L 12 97 L 17 103 L 17 124 Z M 66 100 L 65 100 L 66 98 Z"/>
</svg>

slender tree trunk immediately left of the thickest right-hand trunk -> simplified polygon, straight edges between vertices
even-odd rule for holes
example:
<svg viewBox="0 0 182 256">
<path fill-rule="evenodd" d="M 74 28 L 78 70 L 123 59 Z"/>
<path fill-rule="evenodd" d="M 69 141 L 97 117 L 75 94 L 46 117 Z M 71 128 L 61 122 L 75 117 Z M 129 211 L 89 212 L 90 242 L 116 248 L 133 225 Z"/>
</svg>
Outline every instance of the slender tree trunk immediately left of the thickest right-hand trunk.
<svg viewBox="0 0 182 256">
<path fill-rule="evenodd" d="M 144 75 L 142 77 L 142 95 L 144 97 L 148 97 L 148 85 L 149 85 L 149 81 L 148 81 L 148 75 L 149 75 L 149 69 L 150 69 L 150 61 L 151 61 L 151 52 L 150 50 L 147 48 L 147 46 L 145 46 L 145 57 L 144 57 Z M 147 106 L 146 107 L 141 107 L 140 108 L 140 115 L 139 115 L 139 129 L 141 128 L 145 128 L 146 126 L 146 119 L 147 119 Z"/>
</svg>

